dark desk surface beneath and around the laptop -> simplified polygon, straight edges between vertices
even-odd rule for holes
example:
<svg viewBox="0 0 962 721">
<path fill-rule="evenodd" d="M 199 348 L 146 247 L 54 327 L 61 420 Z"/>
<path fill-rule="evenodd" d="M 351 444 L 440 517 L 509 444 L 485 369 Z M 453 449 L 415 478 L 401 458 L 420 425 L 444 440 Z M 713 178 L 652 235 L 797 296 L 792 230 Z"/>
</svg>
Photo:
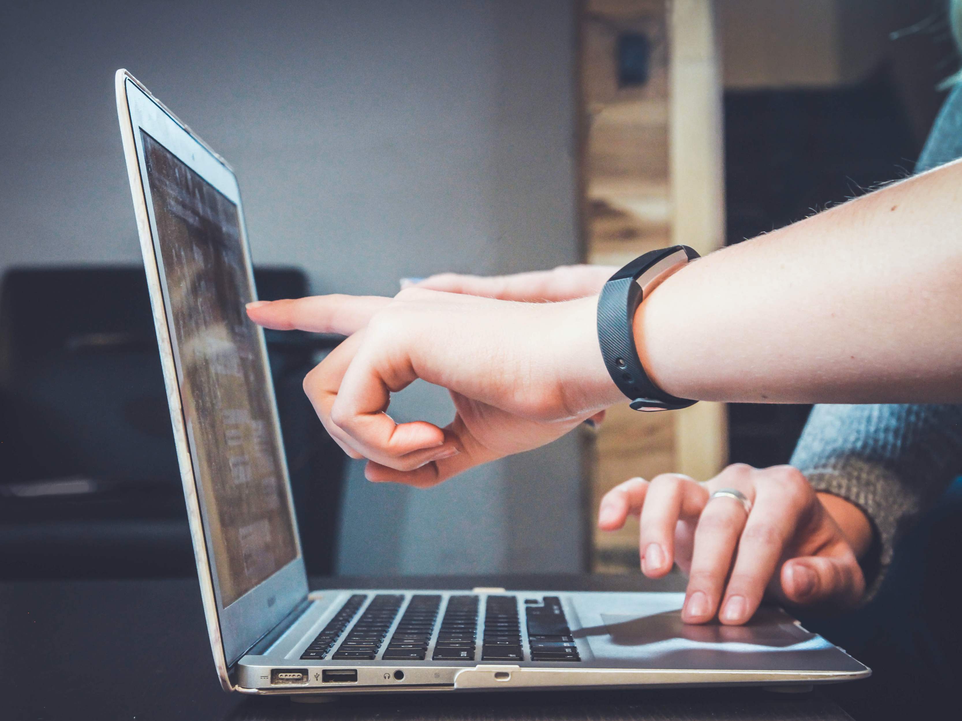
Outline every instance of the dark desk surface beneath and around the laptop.
<svg viewBox="0 0 962 721">
<path fill-rule="evenodd" d="M 316 587 L 650 587 L 644 579 L 618 576 L 315 581 Z M 197 584 L 181 580 L 0 583 L 0 684 L 5 721 L 849 718 L 818 690 L 792 695 L 751 689 L 411 694 L 344 697 L 316 705 L 225 694 L 215 677 Z"/>
</svg>

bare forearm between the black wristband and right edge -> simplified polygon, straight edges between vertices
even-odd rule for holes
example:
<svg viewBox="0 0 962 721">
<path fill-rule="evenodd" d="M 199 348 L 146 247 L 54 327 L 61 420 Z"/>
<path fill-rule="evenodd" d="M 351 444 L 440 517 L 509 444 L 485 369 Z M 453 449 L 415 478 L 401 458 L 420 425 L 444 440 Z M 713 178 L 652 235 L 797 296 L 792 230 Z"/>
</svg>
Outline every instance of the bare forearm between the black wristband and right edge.
<svg viewBox="0 0 962 721">
<path fill-rule="evenodd" d="M 962 164 L 672 276 L 635 316 L 658 385 L 701 400 L 962 401 Z"/>
</svg>

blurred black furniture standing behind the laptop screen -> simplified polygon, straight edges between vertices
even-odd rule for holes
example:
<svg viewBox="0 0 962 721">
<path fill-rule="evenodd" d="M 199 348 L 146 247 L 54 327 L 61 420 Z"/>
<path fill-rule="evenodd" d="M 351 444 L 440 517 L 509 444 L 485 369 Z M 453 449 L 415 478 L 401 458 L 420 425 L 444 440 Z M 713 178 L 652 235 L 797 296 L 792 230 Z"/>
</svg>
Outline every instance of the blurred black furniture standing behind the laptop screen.
<svg viewBox="0 0 962 721">
<path fill-rule="evenodd" d="M 259 297 L 307 294 L 255 270 Z M 342 451 L 304 396 L 337 336 L 268 332 L 309 573 L 333 572 Z M 143 270 L 13 269 L 0 289 L 0 577 L 190 576 L 193 552 Z"/>
</svg>

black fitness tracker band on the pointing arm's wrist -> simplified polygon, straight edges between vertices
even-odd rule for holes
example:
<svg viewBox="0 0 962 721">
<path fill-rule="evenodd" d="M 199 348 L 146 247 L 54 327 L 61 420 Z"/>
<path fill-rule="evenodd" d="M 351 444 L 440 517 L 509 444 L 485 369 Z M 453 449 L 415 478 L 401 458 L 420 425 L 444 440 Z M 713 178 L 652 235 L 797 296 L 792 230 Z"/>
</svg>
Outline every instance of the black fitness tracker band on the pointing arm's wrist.
<svg viewBox="0 0 962 721">
<path fill-rule="evenodd" d="M 635 350 L 635 311 L 648 294 L 698 254 L 687 245 L 646 253 L 608 279 L 598 298 L 598 343 L 611 379 L 634 410 L 678 410 L 697 401 L 676 398 L 651 383 Z"/>
</svg>

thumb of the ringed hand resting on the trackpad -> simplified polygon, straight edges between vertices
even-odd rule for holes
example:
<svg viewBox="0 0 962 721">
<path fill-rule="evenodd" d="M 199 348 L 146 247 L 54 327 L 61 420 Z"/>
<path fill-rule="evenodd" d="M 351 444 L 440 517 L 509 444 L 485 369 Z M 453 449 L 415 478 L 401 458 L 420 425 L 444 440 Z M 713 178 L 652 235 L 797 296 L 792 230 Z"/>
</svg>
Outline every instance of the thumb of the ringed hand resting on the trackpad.
<svg viewBox="0 0 962 721">
<path fill-rule="evenodd" d="M 851 554 L 787 560 L 780 580 L 786 600 L 805 606 L 848 609 L 865 593 L 865 577 Z"/>
</svg>

